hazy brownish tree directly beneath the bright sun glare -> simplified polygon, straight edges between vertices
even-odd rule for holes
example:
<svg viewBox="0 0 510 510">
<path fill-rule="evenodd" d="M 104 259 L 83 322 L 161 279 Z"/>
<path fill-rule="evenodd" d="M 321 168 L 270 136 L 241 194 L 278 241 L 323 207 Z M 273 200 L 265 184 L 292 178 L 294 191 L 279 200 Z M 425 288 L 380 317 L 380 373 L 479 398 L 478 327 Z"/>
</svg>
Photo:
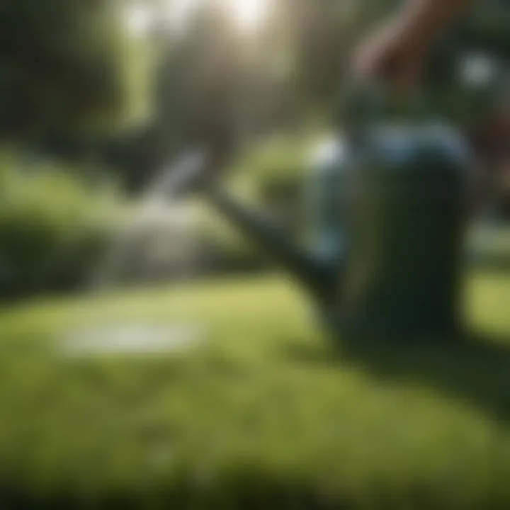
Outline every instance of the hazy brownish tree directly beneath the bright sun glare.
<svg viewBox="0 0 510 510">
<path fill-rule="evenodd" d="M 155 84 L 155 122 L 174 147 L 232 140 L 244 64 L 226 9 L 214 1 L 196 8 L 186 32 L 175 38 Z"/>
</svg>

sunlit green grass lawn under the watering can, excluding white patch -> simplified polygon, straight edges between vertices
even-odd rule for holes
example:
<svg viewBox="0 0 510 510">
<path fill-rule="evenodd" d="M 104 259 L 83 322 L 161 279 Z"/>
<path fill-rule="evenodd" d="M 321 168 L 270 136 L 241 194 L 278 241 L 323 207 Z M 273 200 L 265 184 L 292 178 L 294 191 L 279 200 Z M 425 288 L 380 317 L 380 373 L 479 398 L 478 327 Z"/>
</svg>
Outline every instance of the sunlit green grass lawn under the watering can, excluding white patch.
<svg viewBox="0 0 510 510">
<path fill-rule="evenodd" d="M 339 351 L 276 276 L 4 310 L 1 497 L 6 508 L 510 508 L 509 303 L 510 276 L 480 275 L 468 293 L 480 341 Z M 60 354 L 82 326 L 174 319 L 200 321 L 205 342 Z"/>
</svg>

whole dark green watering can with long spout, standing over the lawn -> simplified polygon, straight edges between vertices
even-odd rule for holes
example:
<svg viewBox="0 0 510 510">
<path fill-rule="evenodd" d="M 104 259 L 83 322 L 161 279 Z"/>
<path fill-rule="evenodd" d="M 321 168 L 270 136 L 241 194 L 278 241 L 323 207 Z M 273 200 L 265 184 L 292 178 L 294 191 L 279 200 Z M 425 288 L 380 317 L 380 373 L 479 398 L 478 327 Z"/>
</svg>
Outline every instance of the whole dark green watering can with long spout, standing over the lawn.
<svg viewBox="0 0 510 510">
<path fill-rule="evenodd" d="M 450 336 L 462 329 L 472 157 L 424 108 L 353 84 L 330 150 L 305 180 L 309 242 L 234 200 L 200 165 L 179 176 L 266 249 L 312 297 L 330 331 Z"/>
</svg>

